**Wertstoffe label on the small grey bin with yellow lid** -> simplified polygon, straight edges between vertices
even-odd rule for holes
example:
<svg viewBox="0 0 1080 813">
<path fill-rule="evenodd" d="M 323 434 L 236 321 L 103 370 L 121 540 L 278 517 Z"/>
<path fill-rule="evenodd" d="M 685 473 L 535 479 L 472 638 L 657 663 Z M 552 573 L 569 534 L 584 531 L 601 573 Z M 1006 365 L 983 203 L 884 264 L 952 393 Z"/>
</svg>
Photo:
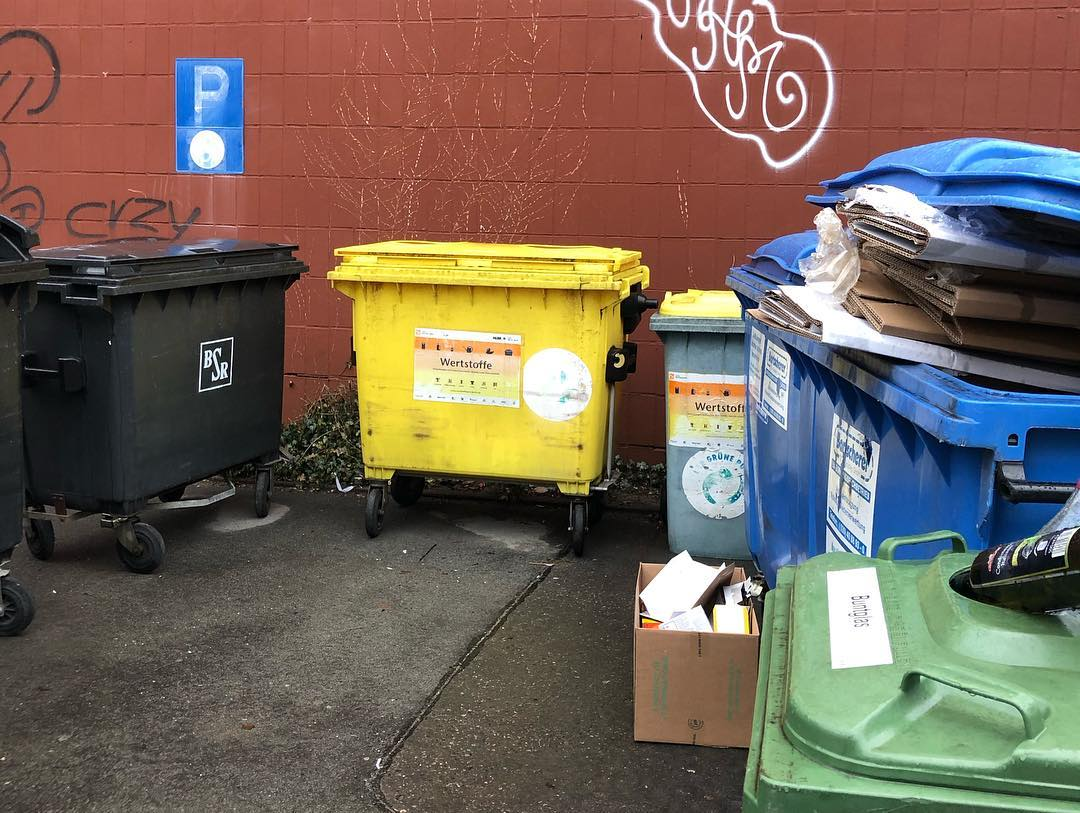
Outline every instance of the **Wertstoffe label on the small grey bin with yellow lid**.
<svg viewBox="0 0 1080 813">
<path fill-rule="evenodd" d="M 667 443 L 703 449 L 745 434 L 743 376 L 667 374 Z"/>
</svg>

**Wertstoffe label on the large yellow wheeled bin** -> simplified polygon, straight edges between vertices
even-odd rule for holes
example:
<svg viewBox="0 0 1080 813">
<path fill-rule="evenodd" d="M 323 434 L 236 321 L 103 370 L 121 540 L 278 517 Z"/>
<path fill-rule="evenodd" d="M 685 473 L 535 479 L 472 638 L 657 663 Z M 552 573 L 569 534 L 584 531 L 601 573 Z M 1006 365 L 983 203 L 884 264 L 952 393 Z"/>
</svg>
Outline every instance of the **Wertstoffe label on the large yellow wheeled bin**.
<svg viewBox="0 0 1080 813">
<path fill-rule="evenodd" d="M 414 336 L 416 401 L 521 406 L 521 336 L 427 327 Z"/>
</svg>

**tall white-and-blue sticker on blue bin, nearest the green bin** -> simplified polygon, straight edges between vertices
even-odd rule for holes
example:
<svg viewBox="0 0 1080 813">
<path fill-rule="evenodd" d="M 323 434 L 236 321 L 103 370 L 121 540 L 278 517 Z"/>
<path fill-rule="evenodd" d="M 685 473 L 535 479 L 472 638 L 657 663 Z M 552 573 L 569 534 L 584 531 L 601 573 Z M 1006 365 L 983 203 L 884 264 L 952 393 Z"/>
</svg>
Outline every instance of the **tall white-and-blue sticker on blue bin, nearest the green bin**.
<svg viewBox="0 0 1080 813">
<path fill-rule="evenodd" d="M 833 416 L 825 504 L 825 548 L 872 554 L 880 444 Z"/>
</svg>

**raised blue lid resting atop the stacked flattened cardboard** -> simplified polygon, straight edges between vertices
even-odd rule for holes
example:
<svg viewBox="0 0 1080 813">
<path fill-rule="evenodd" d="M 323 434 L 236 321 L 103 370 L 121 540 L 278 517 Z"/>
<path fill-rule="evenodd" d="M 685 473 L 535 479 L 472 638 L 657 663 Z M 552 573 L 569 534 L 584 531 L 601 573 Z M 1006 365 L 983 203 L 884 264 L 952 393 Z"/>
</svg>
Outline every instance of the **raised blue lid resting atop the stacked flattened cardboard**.
<svg viewBox="0 0 1080 813">
<path fill-rule="evenodd" d="M 932 206 L 998 206 L 1080 221 L 1080 152 L 1002 138 L 956 138 L 887 152 L 822 181 L 807 200 L 833 206 L 864 184 L 904 189 Z"/>
</svg>

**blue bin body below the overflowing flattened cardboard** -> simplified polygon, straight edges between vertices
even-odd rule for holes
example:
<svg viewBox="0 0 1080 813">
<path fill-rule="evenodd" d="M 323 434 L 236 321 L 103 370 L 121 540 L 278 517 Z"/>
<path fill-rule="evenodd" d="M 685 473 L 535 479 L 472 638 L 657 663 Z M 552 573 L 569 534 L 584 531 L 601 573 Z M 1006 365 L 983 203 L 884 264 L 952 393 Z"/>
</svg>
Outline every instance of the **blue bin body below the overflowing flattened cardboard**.
<svg viewBox="0 0 1080 813">
<path fill-rule="evenodd" d="M 771 284 L 741 267 L 728 285 L 753 308 Z M 894 536 L 1029 536 L 1080 477 L 1080 395 L 980 385 L 744 319 L 746 532 L 770 584 L 785 565 L 872 556 Z"/>
</svg>

